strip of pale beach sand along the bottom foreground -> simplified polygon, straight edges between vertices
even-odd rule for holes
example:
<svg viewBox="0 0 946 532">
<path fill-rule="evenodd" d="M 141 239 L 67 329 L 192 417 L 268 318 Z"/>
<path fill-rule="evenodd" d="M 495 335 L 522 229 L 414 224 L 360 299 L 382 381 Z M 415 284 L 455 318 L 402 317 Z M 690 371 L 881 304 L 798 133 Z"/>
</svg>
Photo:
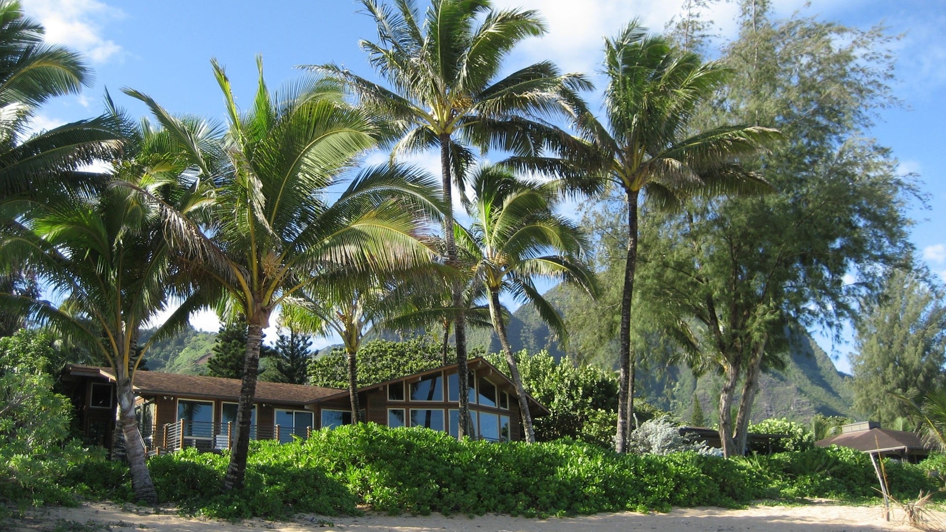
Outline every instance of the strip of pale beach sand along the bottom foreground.
<svg viewBox="0 0 946 532">
<path fill-rule="evenodd" d="M 818 502 L 804 506 L 757 505 L 746 509 L 674 509 L 665 514 L 633 512 L 604 513 L 576 518 L 527 519 L 505 515 L 388 516 L 361 517 L 299 516 L 290 522 L 248 520 L 229 523 L 176 515 L 172 508 L 153 510 L 134 506 L 84 504 L 76 508 L 44 507 L 26 516 L 0 521 L 4 532 L 236 532 L 280 530 L 287 532 L 339 530 L 353 532 L 603 532 L 605 530 L 648 532 L 847 532 L 867 530 L 916 530 L 902 523 L 903 513 L 893 512 L 886 522 L 878 506 L 844 506 Z M 946 513 L 931 514 L 927 530 L 944 530 Z"/>
</svg>

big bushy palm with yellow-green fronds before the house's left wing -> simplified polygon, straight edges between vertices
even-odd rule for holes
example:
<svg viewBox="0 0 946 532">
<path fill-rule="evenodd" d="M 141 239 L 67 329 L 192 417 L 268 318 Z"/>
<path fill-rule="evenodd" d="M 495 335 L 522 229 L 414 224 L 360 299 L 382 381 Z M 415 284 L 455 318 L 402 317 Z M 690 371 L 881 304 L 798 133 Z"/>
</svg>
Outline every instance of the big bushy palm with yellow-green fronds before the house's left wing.
<svg viewBox="0 0 946 532">
<path fill-rule="evenodd" d="M 246 470 L 251 414 L 263 328 L 273 310 L 327 275 L 402 267 L 429 257 L 415 236 L 440 205 L 433 183 L 411 168 L 374 168 L 359 175 L 334 204 L 326 189 L 361 152 L 377 145 L 383 128 L 343 102 L 336 81 L 310 79 L 271 94 L 258 61 L 259 81 L 250 110 L 241 114 L 230 80 L 214 73 L 226 102 L 229 131 L 222 171 L 198 168 L 208 185 L 204 217 L 165 206 L 166 230 L 195 270 L 219 287 L 231 309 L 247 319 L 248 341 L 236 415 L 236 441 L 224 488 L 240 488 Z M 195 160 L 201 146 L 180 121 L 151 98 L 143 99 Z M 209 147 L 211 150 L 213 147 Z M 393 198 L 398 199 L 393 199 Z M 201 225 L 205 222 L 205 225 Z"/>
</svg>

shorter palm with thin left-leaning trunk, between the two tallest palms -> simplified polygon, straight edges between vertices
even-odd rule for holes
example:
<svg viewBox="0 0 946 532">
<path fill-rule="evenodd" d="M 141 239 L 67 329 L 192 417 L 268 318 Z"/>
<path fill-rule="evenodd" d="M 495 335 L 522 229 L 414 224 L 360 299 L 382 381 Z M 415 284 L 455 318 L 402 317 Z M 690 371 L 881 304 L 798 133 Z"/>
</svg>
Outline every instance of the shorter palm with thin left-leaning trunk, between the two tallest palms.
<svg viewBox="0 0 946 532">
<path fill-rule="evenodd" d="M 557 185 L 517 179 L 498 167 L 482 167 L 473 175 L 473 198 L 467 212 L 474 220 L 465 230 L 457 226 L 457 242 L 479 257 L 478 283 L 486 288 L 490 317 L 499 336 L 509 370 L 516 384 L 526 441 L 534 443 L 532 417 L 522 379 L 506 335 L 500 293 L 512 293 L 532 304 L 558 338 L 567 338 L 558 311 L 535 289 L 534 278 L 568 281 L 594 294 L 595 276 L 581 256 L 587 251 L 586 235 L 573 223 L 555 215 Z"/>
</svg>

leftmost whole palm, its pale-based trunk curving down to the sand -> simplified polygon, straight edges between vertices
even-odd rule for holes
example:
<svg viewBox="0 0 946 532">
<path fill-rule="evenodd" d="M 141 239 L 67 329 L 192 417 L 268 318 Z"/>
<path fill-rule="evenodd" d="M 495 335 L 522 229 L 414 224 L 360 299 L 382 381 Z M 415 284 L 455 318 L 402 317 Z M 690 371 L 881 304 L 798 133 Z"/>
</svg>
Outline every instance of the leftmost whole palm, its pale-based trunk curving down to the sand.
<svg viewBox="0 0 946 532">
<path fill-rule="evenodd" d="M 119 122 L 122 118 L 109 106 Z M 186 211 L 178 177 L 187 162 L 168 155 L 166 134 L 147 122 L 126 128 L 126 151 L 112 161 L 113 179 L 148 190 L 166 204 Z M 19 309 L 48 323 L 64 338 L 108 361 L 116 383 L 118 423 L 124 435 L 135 497 L 156 503 L 145 464 L 145 449 L 134 415 L 132 380 L 150 344 L 184 326 L 194 310 L 187 301 L 144 346 L 147 326 L 174 298 L 189 293 L 168 250 L 161 213 L 142 204 L 128 188 L 98 187 L 96 194 L 74 194 L 57 202 L 35 202 L 29 217 L 0 239 L 4 267 L 26 263 L 63 297 L 59 308 L 17 295 L 0 294 L 5 308 Z"/>
</svg>

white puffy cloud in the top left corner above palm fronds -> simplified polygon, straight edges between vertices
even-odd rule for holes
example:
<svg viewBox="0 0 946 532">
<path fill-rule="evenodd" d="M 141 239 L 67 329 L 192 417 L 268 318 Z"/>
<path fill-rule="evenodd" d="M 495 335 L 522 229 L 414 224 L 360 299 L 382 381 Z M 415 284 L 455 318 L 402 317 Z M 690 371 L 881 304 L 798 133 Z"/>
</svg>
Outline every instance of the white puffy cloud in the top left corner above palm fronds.
<svg viewBox="0 0 946 532">
<path fill-rule="evenodd" d="M 45 27 L 51 43 L 72 46 L 93 62 L 121 57 L 122 47 L 102 35 L 105 23 L 125 16 L 121 9 L 97 0 L 26 0 L 23 9 Z"/>
</svg>

